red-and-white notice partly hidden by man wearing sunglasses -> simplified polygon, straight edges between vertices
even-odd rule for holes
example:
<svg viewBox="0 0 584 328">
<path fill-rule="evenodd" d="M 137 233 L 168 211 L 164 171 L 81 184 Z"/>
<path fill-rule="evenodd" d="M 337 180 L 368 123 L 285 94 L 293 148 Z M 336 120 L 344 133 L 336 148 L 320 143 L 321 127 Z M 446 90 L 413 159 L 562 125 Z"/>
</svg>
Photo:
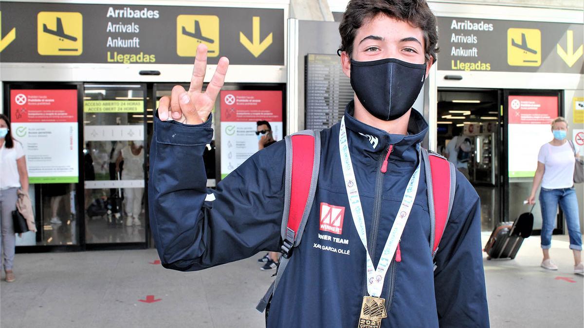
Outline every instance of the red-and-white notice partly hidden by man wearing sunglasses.
<svg viewBox="0 0 584 328">
<path fill-rule="evenodd" d="M 258 151 L 257 121 L 268 121 L 274 140 L 283 138 L 282 92 L 221 91 L 221 179 Z"/>
</svg>

